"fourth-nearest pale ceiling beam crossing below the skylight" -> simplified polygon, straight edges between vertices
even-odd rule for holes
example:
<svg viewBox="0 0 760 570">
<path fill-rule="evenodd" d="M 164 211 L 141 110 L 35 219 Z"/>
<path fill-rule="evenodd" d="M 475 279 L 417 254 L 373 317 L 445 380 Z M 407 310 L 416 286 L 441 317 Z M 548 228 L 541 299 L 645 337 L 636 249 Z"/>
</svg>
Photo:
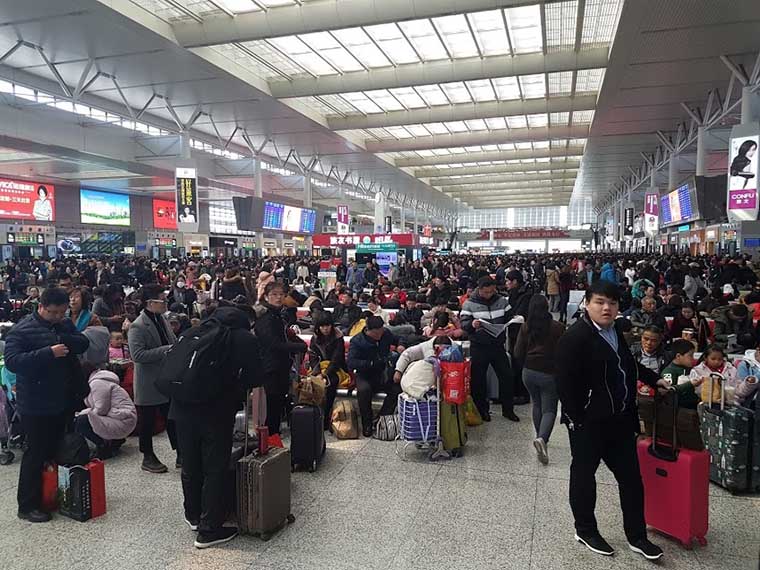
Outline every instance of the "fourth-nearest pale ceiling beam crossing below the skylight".
<svg viewBox="0 0 760 570">
<path fill-rule="evenodd" d="M 588 131 L 588 125 L 470 131 L 452 135 L 432 135 L 429 137 L 414 137 L 400 140 L 368 140 L 365 146 L 368 152 L 403 152 L 455 146 L 536 142 L 557 139 L 585 139 L 588 136 Z"/>
</svg>

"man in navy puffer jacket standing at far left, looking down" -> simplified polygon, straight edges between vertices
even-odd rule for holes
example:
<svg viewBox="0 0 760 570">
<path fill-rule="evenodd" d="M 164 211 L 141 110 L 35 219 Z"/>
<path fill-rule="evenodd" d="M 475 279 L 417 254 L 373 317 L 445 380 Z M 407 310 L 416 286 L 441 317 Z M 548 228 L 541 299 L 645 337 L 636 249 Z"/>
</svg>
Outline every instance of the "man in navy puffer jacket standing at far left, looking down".
<svg viewBox="0 0 760 570">
<path fill-rule="evenodd" d="M 90 341 L 66 319 L 69 296 L 63 289 L 45 289 L 40 305 L 8 332 L 5 365 L 16 373 L 16 396 L 27 450 L 21 460 L 18 516 L 29 522 L 47 522 L 40 510 L 42 467 L 52 461 L 71 420 L 71 410 L 87 395 L 77 354 Z"/>
</svg>

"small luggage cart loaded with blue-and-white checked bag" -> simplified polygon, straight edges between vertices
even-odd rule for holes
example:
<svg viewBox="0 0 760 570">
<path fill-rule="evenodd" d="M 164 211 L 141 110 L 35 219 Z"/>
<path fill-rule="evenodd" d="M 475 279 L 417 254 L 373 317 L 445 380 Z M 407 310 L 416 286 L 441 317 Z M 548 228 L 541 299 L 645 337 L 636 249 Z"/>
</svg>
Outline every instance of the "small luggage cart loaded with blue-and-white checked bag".
<svg viewBox="0 0 760 570">
<path fill-rule="evenodd" d="M 403 392 L 399 394 L 396 454 L 403 461 L 406 461 L 406 450 L 410 445 L 427 451 L 430 461 L 451 459 L 451 454 L 443 448 L 441 437 L 442 400 L 440 372 L 436 373 L 435 390 L 428 392 L 424 400 L 416 400 Z"/>
</svg>

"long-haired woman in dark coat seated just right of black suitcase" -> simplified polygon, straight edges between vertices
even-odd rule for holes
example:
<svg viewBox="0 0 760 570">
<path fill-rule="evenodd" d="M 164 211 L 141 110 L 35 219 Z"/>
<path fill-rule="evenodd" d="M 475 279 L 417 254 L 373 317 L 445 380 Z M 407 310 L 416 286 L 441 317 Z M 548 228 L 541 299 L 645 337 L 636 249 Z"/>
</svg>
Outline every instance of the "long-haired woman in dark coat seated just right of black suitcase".
<svg viewBox="0 0 760 570">
<path fill-rule="evenodd" d="M 327 381 L 325 392 L 324 428 L 330 429 L 330 412 L 335 403 L 340 378 L 338 372 L 346 372 L 346 347 L 343 334 L 335 328 L 330 313 L 318 313 L 314 319 L 314 336 L 309 344 L 309 368 L 312 374 Z"/>
</svg>

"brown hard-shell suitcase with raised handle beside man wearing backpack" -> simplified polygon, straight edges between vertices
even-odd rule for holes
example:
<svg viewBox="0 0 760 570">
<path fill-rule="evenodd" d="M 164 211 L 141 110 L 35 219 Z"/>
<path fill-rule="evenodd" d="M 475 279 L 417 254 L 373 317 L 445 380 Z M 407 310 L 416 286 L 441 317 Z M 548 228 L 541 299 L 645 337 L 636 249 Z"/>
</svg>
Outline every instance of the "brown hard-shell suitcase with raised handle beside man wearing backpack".
<svg viewBox="0 0 760 570">
<path fill-rule="evenodd" d="M 250 397 L 247 402 L 250 402 Z M 246 420 L 249 416 L 246 404 Z M 295 517 L 290 512 L 290 451 L 271 448 L 248 455 L 248 422 L 243 457 L 237 463 L 237 520 L 240 534 L 269 540 Z"/>
</svg>

